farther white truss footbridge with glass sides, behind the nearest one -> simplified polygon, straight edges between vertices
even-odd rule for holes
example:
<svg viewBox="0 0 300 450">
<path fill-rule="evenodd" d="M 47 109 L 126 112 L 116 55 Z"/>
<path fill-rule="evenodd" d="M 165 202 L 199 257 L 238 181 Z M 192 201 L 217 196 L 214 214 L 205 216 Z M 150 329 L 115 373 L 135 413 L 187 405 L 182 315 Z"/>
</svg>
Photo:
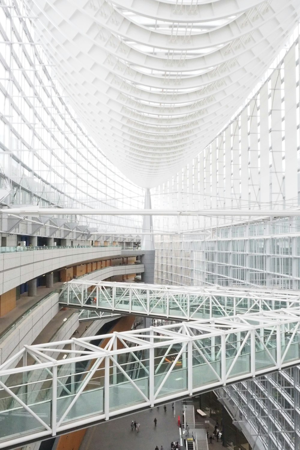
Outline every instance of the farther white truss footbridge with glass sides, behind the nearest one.
<svg viewBox="0 0 300 450">
<path fill-rule="evenodd" d="M 59 303 L 94 311 L 90 318 L 97 318 L 98 311 L 114 311 L 168 320 L 198 320 L 300 306 L 300 295 L 298 291 L 77 279 L 63 285 Z"/>
</svg>

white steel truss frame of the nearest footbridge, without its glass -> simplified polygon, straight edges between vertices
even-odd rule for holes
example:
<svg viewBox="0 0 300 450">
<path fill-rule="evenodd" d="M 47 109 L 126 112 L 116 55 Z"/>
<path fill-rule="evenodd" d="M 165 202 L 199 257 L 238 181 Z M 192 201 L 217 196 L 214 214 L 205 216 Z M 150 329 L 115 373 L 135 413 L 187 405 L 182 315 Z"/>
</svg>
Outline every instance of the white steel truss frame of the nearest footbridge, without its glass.
<svg viewBox="0 0 300 450">
<path fill-rule="evenodd" d="M 0 411 L 0 417 L 1 414 L 11 414 L 11 417 L 13 417 L 14 412 L 18 412 L 18 407 L 22 406 L 33 418 L 38 420 L 44 429 L 42 431 L 36 431 L 35 429 L 25 430 L 23 435 L 20 433 L 21 435 L 18 437 L 8 437 L 7 440 L 2 436 L 0 437 L 0 448 L 21 444 L 29 440 L 38 440 L 41 437 L 50 435 L 55 436 L 58 432 L 84 426 L 101 419 L 107 420 L 116 415 L 137 410 L 145 406 L 152 407 L 161 402 L 174 400 L 178 396 L 192 395 L 195 392 L 214 389 L 218 386 L 225 386 L 227 383 L 233 383 L 270 371 L 280 370 L 283 367 L 299 364 L 299 326 L 300 307 L 295 307 L 278 311 L 262 311 L 255 314 L 236 315 L 222 319 L 197 320 L 190 323 L 183 322 L 121 333 L 115 332 L 101 336 L 72 338 L 67 341 L 24 346 L 13 358 L 0 366 L 0 377 L 4 380 L 0 382 L 0 391 L 3 390 L 15 401 L 11 409 L 5 411 L 2 409 Z M 271 337 L 273 341 L 270 344 Z M 99 338 L 106 340 L 104 348 L 99 348 L 93 344 Z M 219 339 L 218 345 L 216 345 L 217 339 Z M 169 369 L 160 374 L 161 378 L 157 384 L 154 382 L 155 368 L 157 370 L 159 368 L 154 351 L 155 349 L 161 350 L 160 357 L 166 358 L 169 354 L 170 346 L 175 346 L 176 357 L 170 363 Z M 287 356 L 292 346 L 294 354 Z M 248 347 L 248 351 L 242 354 L 246 347 Z M 143 365 L 143 361 L 140 363 L 139 359 L 135 358 L 136 363 L 138 365 L 141 364 L 140 367 L 143 366 L 146 369 L 145 376 L 148 380 L 147 393 L 141 391 L 138 386 L 138 381 L 141 378 L 131 378 L 118 362 L 118 356 L 122 355 L 124 357 L 127 355 L 129 357 L 138 351 L 148 352 L 148 356 L 145 359 L 146 363 L 148 361 L 148 369 Z M 269 362 L 265 361 L 264 367 L 256 368 L 257 356 L 260 355 L 261 351 L 265 352 L 265 355 L 269 355 Z M 273 352 L 272 354 L 271 351 Z M 169 393 L 164 392 L 163 395 L 159 395 L 171 374 L 176 374 L 176 363 L 183 353 L 184 357 L 181 358 L 182 369 L 180 370 L 185 370 L 186 383 L 184 383 L 183 387 L 179 387 L 179 389 L 173 391 L 171 389 Z M 27 355 L 34 356 L 34 359 L 38 362 L 35 365 L 26 365 Z M 64 355 L 67 355 L 67 358 Z M 202 363 L 200 363 L 200 360 L 197 361 L 203 365 L 203 370 L 210 370 L 210 373 L 214 375 L 213 382 L 197 385 L 196 381 L 195 385 L 193 376 L 195 376 L 195 368 L 198 367 L 198 365 L 195 366 L 195 355 L 200 356 Z M 243 363 L 242 366 L 239 366 L 239 360 L 241 358 Z M 246 365 L 244 364 L 245 358 L 248 361 Z M 23 366 L 14 367 L 20 359 L 23 361 Z M 66 379 L 67 376 L 72 376 L 72 368 L 74 368 L 76 362 L 84 361 L 90 361 L 92 364 L 83 373 L 83 379 L 74 391 L 75 396 L 73 396 L 72 402 L 63 411 L 60 411 L 60 417 L 57 418 L 58 399 L 61 400 L 64 398 L 59 396 L 57 390 L 58 377 L 61 377 L 59 371 L 61 370 L 63 373 L 62 379 Z M 215 361 L 219 361 L 219 368 L 215 365 Z M 238 369 L 236 373 L 233 372 L 235 366 Z M 46 370 L 46 378 L 44 380 L 42 379 L 41 382 L 47 382 L 47 389 L 50 387 L 50 392 L 52 387 L 52 393 L 49 399 L 51 401 L 50 426 L 34 411 L 37 402 L 27 401 L 27 404 L 25 404 L 18 395 L 13 393 L 12 390 L 15 390 L 15 387 L 12 386 L 12 382 L 5 381 L 9 380 L 11 375 L 17 374 L 28 374 L 28 376 L 33 376 L 34 378 L 34 374 L 40 374 L 43 369 Z M 121 405 L 117 408 L 113 403 L 110 404 L 111 401 L 113 402 L 110 396 L 110 388 L 118 384 L 114 375 L 117 369 L 128 381 L 129 384 L 126 386 L 132 388 L 133 392 L 139 393 L 140 401 L 134 402 L 132 405 Z M 92 410 L 90 415 L 85 415 L 85 417 L 76 416 L 72 419 L 69 417 L 67 422 L 63 422 L 63 419 L 67 417 L 68 411 L 71 410 L 72 405 L 76 405 L 83 392 L 86 394 L 90 389 L 93 390 L 92 386 L 89 387 L 89 382 L 92 381 L 94 374 L 96 374 L 96 379 L 99 378 L 97 370 L 104 370 L 104 381 L 101 387 L 99 387 L 99 389 L 104 389 L 103 411 L 95 414 Z M 240 373 L 241 370 L 242 372 Z M 49 374 L 52 374 L 52 377 L 49 377 Z M 30 381 L 27 381 L 27 383 L 18 386 L 32 386 Z M 37 384 L 37 382 L 35 383 Z"/>
</svg>

